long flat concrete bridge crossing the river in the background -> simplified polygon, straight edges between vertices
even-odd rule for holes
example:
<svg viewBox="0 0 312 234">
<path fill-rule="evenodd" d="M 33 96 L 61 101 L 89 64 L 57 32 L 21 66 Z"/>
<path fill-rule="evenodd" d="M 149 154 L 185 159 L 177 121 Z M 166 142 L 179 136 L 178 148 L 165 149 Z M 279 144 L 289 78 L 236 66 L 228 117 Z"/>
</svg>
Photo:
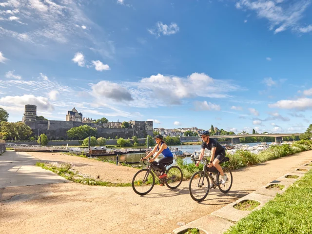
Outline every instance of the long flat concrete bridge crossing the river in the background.
<svg viewBox="0 0 312 234">
<path fill-rule="evenodd" d="M 292 137 L 292 136 L 300 136 L 300 133 L 272 133 L 272 134 L 244 134 L 244 135 L 218 135 L 218 136 L 210 136 L 211 138 L 229 138 L 232 140 L 232 144 L 239 144 L 239 138 L 241 137 L 275 137 L 276 142 L 282 142 L 283 137 Z M 181 137 L 181 140 L 184 142 L 190 142 L 194 140 L 201 141 L 200 137 Z"/>
</svg>

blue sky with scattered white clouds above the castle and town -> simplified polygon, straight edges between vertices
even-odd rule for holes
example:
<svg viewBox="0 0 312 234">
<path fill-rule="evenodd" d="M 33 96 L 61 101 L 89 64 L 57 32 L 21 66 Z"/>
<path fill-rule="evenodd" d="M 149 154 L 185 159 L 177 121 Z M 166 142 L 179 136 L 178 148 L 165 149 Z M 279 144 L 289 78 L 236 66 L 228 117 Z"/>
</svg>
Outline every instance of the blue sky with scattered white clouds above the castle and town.
<svg viewBox="0 0 312 234">
<path fill-rule="evenodd" d="M 304 132 L 312 0 L 0 2 L 0 107 L 65 120 Z"/>
</svg>

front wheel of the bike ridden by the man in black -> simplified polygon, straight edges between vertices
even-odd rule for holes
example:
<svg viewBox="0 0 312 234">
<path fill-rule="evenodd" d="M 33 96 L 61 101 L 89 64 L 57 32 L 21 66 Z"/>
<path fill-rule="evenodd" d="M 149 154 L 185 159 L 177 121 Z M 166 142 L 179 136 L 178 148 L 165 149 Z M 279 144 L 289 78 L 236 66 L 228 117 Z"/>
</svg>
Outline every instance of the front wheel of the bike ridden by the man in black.
<svg viewBox="0 0 312 234">
<path fill-rule="evenodd" d="M 195 201 L 202 201 L 209 193 L 209 178 L 203 171 L 196 172 L 190 180 L 190 195 Z"/>
</svg>

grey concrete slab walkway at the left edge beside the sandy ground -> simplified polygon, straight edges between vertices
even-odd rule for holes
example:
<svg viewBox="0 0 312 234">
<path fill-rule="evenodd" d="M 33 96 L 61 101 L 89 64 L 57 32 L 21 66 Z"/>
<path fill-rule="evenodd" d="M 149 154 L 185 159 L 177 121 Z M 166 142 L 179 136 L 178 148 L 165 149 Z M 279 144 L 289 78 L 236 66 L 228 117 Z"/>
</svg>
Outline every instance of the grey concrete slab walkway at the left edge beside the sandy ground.
<svg viewBox="0 0 312 234">
<path fill-rule="evenodd" d="M 24 152 L 5 152 L 0 156 L 0 188 L 69 182 L 36 166 L 37 158 Z"/>
</svg>

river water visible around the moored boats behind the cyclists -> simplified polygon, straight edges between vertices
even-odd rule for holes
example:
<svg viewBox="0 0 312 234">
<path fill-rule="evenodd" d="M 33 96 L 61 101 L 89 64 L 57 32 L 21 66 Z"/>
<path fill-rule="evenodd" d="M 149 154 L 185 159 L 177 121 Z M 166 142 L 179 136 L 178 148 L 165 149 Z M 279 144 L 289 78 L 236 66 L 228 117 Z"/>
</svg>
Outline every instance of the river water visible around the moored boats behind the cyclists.
<svg viewBox="0 0 312 234">
<path fill-rule="evenodd" d="M 272 142 L 267 142 L 267 144 L 271 144 Z M 261 144 L 261 142 L 253 142 L 253 143 L 242 143 L 250 146 L 254 146 L 257 144 Z M 138 148 L 138 147 L 136 147 Z M 169 148 L 178 148 L 182 152 L 184 151 L 189 151 L 190 153 L 193 154 L 194 151 L 200 150 L 201 146 L 200 145 L 173 145 L 169 146 Z M 145 156 L 144 153 L 142 154 L 128 154 L 128 155 L 119 155 L 118 160 L 120 162 L 138 162 L 140 161 L 140 158 Z M 105 159 L 113 159 L 116 161 L 116 156 L 98 156 L 98 158 L 105 158 Z M 192 163 L 191 157 L 182 157 L 184 160 L 187 161 L 187 163 Z"/>
</svg>

